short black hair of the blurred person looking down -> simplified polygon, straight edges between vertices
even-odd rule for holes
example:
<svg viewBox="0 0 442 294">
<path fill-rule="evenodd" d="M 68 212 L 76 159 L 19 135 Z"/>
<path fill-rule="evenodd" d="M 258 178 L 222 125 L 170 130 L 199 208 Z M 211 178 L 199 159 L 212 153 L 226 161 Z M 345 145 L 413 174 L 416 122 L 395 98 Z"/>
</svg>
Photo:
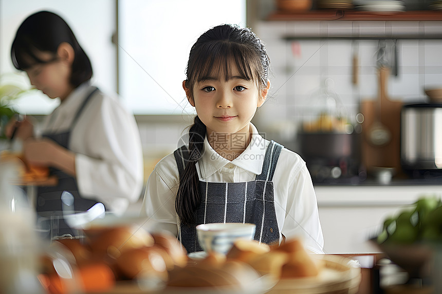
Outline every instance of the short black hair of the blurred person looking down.
<svg viewBox="0 0 442 294">
<path fill-rule="evenodd" d="M 53 62 L 57 58 L 57 49 L 63 42 L 69 43 L 75 52 L 69 83 L 76 88 L 90 80 L 93 74 L 92 65 L 68 24 L 55 13 L 36 12 L 23 21 L 12 42 L 12 63 L 16 69 L 26 70 L 36 64 Z M 42 60 L 39 52 L 50 52 L 53 57 Z"/>
</svg>

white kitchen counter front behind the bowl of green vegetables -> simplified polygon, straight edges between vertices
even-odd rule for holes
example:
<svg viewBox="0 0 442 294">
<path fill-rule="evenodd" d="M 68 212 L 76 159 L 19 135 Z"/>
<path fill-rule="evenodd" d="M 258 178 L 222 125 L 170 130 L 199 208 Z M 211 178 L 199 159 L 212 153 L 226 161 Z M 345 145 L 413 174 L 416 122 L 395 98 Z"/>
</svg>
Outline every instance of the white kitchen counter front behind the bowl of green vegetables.
<svg viewBox="0 0 442 294">
<path fill-rule="evenodd" d="M 383 220 L 423 196 L 442 196 L 442 185 L 315 186 L 324 252 L 379 252 L 370 240 Z"/>
</svg>

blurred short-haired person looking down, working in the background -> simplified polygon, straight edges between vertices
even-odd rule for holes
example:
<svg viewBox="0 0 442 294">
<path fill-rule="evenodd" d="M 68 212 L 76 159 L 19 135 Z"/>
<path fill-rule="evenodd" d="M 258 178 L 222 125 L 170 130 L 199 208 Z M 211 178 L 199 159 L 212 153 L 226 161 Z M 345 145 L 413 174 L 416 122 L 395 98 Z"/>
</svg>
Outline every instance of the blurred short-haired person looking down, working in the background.
<svg viewBox="0 0 442 294">
<path fill-rule="evenodd" d="M 58 177 L 57 186 L 39 187 L 38 212 L 60 213 L 64 190 L 73 194 L 75 210 L 102 202 L 124 212 L 143 185 L 138 127 L 117 99 L 89 84 L 91 63 L 69 26 L 51 12 L 30 15 L 16 32 L 11 57 L 35 88 L 61 101 L 43 122 L 42 136 L 33 137 L 28 121 L 16 124 L 26 161 L 49 166 Z"/>
</svg>

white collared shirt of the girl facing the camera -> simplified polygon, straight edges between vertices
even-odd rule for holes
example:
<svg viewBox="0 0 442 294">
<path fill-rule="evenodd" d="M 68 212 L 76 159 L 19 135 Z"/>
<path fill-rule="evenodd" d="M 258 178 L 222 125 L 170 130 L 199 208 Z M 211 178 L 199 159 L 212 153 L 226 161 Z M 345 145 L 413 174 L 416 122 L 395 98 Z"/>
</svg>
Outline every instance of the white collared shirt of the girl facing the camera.
<svg viewBox="0 0 442 294">
<path fill-rule="evenodd" d="M 196 164 L 200 181 L 247 182 L 261 174 L 269 141 L 251 125 L 252 140 L 247 149 L 229 161 L 210 146 L 207 136 L 204 153 Z M 177 235 L 175 197 L 179 172 L 174 154 L 165 156 L 149 177 L 142 213 L 157 229 L 167 229 Z M 322 253 L 324 239 L 319 221 L 318 205 L 310 174 L 301 157 L 283 149 L 273 175 L 275 212 L 280 237 L 300 237 L 307 249 Z M 282 240 L 280 238 L 280 240 Z"/>
</svg>

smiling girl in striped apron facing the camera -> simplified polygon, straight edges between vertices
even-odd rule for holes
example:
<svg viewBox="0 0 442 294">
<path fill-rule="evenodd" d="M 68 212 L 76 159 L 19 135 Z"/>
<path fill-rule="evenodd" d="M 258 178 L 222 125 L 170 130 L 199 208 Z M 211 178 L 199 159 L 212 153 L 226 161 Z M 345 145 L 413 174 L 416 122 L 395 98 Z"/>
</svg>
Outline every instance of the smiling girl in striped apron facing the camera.
<svg viewBox="0 0 442 294">
<path fill-rule="evenodd" d="M 265 140 L 250 122 L 270 82 L 269 58 L 250 29 L 220 25 L 193 45 L 182 86 L 197 116 L 189 145 L 150 175 L 142 211 L 200 251 L 195 226 L 253 223 L 267 244 L 301 237 L 321 253 L 316 195 L 300 156 Z"/>
</svg>

